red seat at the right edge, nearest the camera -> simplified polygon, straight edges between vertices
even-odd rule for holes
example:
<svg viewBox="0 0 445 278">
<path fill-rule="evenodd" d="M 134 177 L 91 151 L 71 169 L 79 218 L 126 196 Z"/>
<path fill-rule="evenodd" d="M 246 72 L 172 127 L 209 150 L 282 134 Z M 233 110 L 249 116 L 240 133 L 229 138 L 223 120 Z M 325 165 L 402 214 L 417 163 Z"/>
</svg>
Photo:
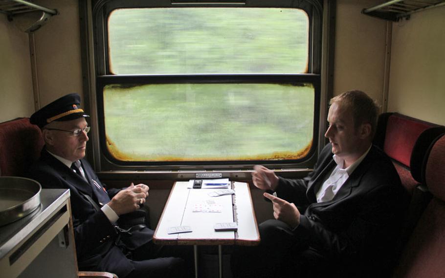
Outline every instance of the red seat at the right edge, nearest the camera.
<svg viewBox="0 0 445 278">
<path fill-rule="evenodd" d="M 445 277 L 445 136 L 431 148 L 424 180 L 433 195 L 401 256 L 396 278 Z"/>
</svg>

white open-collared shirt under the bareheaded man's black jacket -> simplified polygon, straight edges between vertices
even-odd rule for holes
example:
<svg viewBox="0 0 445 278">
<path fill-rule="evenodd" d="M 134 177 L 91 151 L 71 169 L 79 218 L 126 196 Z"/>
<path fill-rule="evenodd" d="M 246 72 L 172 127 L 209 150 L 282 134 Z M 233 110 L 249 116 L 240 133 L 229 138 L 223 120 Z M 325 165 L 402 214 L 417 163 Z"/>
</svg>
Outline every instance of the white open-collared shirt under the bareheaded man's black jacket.
<svg viewBox="0 0 445 278">
<path fill-rule="evenodd" d="M 334 199 L 335 194 L 337 194 L 341 186 L 346 182 L 349 176 L 351 176 L 357 166 L 363 161 L 370 149 L 371 146 L 369 146 L 368 150 L 360 158 L 358 158 L 356 162 L 352 163 L 345 169 L 343 168 L 345 161 L 336 155 L 333 156 L 333 159 L 337 165 L 315 195 L 317 198 L 317 203 L 327 202 Z"/>
</svg>

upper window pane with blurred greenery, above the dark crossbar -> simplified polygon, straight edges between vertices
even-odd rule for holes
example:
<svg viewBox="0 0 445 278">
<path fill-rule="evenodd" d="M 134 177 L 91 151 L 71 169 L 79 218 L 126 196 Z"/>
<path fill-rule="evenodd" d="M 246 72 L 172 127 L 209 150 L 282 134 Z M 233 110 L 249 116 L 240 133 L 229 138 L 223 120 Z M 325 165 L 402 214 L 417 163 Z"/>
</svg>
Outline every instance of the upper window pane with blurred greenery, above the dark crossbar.
<svg viewBox="0 0 445 278">
<path fill-rule="evenodd" d="M 305 73 L 309 18 L 295 8 L 111 12 L 111 74 Z"/>
</svg>

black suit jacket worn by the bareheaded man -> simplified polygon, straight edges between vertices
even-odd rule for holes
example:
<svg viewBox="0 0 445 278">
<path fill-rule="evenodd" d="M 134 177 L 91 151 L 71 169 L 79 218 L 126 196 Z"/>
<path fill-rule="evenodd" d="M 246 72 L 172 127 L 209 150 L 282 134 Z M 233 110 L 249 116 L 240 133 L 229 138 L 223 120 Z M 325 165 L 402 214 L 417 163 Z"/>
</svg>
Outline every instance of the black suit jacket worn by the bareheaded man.
<svg viewBox="0 0 445 278">
<path fill-rule="evenodd" d="M 317 203 L 315 194 L 336 163 L 326 145 L 304 179 L 280 178 L 277 196 L 300 210 L 294 233 L 348 276 L 376 273 L 394 254 L 407 193 L 390 159 L 372 146 L 334 199 Z"/>
</svg>

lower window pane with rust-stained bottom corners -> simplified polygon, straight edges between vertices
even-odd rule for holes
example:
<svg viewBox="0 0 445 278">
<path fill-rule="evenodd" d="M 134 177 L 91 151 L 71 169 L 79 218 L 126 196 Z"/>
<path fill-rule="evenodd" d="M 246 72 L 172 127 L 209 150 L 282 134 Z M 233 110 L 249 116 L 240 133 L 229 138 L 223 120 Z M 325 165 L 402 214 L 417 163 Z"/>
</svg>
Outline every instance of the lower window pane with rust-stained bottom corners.
<svg viewBox="0 0 445 278">
<path fill-rule="evenodd" d="M 103 96 L 119 161 L 296 160 L 312 146 L 312 84 L 112 84 Z"/>
</svg>

